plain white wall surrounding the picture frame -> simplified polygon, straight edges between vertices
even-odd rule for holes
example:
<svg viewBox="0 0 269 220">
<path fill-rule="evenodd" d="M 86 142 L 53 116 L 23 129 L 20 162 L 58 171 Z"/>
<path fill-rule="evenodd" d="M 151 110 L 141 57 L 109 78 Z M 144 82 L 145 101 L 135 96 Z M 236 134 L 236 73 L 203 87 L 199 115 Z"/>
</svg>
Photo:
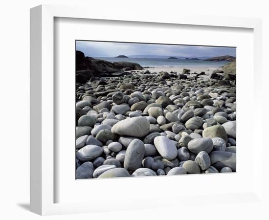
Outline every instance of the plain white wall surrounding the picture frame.
<svg viewBox="0 0 269 220">
<path fill-rule="evenodd" d="M 262 99 L 266 98 L 266 86 L 269 82 L 267 74 L 267 63 L 269 60 L 269 14 L 268 2 L 264 0 L 246 1 L 246 0 L 225 0 L 220 4 L 216 0 L 192 0 L 192 1 L 145 1 L 145 0 L 9 0 L 1 2 L 0 21 L 1 30 L 1 97 L 4 106 L 1 108 L 1 145 L 11 146 L 10 140 L 14 140 L 13 131 L 16 126 L 19 132 L 16 133 L 16 139 L 20 140 L 20 146 L 16 146 L 16 154 L 13 155 L 12 161 L 8 156 L 2 156 L 1 164 L 1 219 L 27 219 L 27 220 L 74 220 L 81 219 L 110 219 L 110 220 L 130 220 L 143 219 L 169 219 L 179 217 L 180 219 L 206 219 L 227 220 L 227 219 L 244 219 L 244 220 L 268 220 L 268 199 L 265 202 L 247 202 L 247 203 L 230 203 L 222 205 L 212 205 L 209 207 L 210 212 L 206 212 L 204 206 L 184 207 L 158 210 L 137 210 L 121 212 L 104 212 L 104 213 L 88 213 L 81 215 L 65 215 L 65 216 L 47 216 L 41 217 L 29 212 L 29 8 L 39 4 L 63 4 L 63 5 L 84 5 L 91 10 L 98 10 L 99 13 L 106 14 L 112 11 L 113 13 L 132 13 L 134 11 L 137 16 L 151 13 L 166 16 L 173 14 L 175 17 L 182 13 L 203 14 L 203 15 L 225 15 L 238 17 L 254 17 L 263 18 L 263 84 L 265 86 Z M 130 10 L 130 8 L 132 10 Z M 19 40 L 18 40 L 19 39 Z M 11 44 L 12 43 L 12 44 Z M 11 47 L 13 49 L 11 49 Z M 16 48 L 17 52 L 14 52 Z M 14 59 L 19 54 L 20 59 L 16 59 L 16 71 L 12 71 L 11 66 L 14 66 Z M 257 73 L 259 77 L 261 73 Z M 16 79 L 16 80 L 14 80 Z M 18 98 L 18 89 L 20 88 L 20 96 Z M 261 84 L 262 85 L 262 84 Z M 14 98 L 17 97 L 16 106 L 19 108 L 11 108 L 14 106 Z M 264 113 L 267 114 L 268 104 L 264 105 Z M 267 108 L 266 108 L 267 107 Z M 6 110 L 8 109 L 8 114 Z M 261 109 L 260 109 L 261 110 Z M 18 111 L 20 115 L 18 116 Z M 262 110 L 261 110 L 262 111 Z M 10 115 L 17 115 L 14 121 Z M 16 121 L 15 121 L 16 120 Z M 11 123 L 13 121 L 14 123 Z M 264 117 L 264 135 L 268 135 L 269 124 L 268 118 Z M 261 135 L 262 133 L 260 133 Z M 12 141 L 13 143 L 13 141 Z M 5 148 L 6 148 L 5 147 Z M 266 143 L 264 143 L 264 154 L 260 155 L 264 158 L 263 168 L 269 169 L 267 155 L 269 153 Z M 19 166 L 18 166 L 19 164 Z M 16 170 L 16 175 L 14 172 Z M 269 184 L 268 174 L 264 174 L 265 186 Z M 264 197 L 268 198 L 268 187 L 264 188 Z M 221 210 L 225 210 L 220 214 Z M 202 213 L 202 214 L 201 214 Z"/>
</svg>

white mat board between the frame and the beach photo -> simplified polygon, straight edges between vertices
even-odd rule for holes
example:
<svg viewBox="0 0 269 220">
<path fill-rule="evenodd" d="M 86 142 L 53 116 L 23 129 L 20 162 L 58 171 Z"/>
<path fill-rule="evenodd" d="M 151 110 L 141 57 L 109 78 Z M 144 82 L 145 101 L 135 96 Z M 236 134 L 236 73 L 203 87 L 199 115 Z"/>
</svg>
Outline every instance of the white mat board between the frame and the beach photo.
<svg viewBox="0 0 269 220">
<path fill-rule="evenodd" d="M 247 89 L 253 89 L 252 29 L 56 18 L 55 33 L 55 58 L 59 64 L 55 74 L 60 82 L 60 87 L 56 88 L 60 108 L 55 117 L 59 125 L 59 132 L 55 134 L 59 136 L 59 142 L 55 147 L 59 151 L 60 162 L 57 165 L 59 169 L 55 183 L 58 194 L 55 202 L 89 202 L 88 198 L 92 198 L 95 203 L 92 206 L 95 206 L 96 203 L 102 203 L 107 191 L 91 189 L 107 189 L 108 185 L 113 188 L 113 192 L 117 192 L 117 196 L 107 198 L 106 201 L 111 199 L 111 202 L 121 206 L 130 205 L 134 199 L 146 201 L 148 198 L 156 198 L 158 201 L 160 195 L 167 199 L 180 197 L 187 200 L 195 195 L 244 193 L 253 189 L 253 145 L 250 144 L 253 126 L 251 121 L 246 120 L 247 111 L 244 111 L 249 100 L 253 102 L 251 94 L 248 98 L 244 95 Z M 70 97 L 74 97 L 75 40 L 237 47 L 237 174 L 74 180 L 75 109 L 74 99 Z M 245 166 L 249 169 L 243 169 Z M 179 184 L 184 189 L 197 189 L 199 184 L 203 190 L 175 190 Z M 83 197 L 77 196 L 82 194 Z M 169 195 L 172 197 L 169 198 Z"/>
</svg>

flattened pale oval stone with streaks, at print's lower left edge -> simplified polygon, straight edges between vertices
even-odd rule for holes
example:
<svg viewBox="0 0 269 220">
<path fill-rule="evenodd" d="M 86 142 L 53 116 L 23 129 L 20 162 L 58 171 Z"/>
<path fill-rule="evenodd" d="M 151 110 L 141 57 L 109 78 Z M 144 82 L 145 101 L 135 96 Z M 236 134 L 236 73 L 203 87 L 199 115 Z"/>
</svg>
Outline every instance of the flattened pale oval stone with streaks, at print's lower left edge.
<svg viewBox="0 0 269 220">
<path fill-rule="evenodd" d="M 103 149 L 97 145 L 86 145 L 78 150 L 76 157 L 80 161 L 89 161 L 97 158 L 103 153 Z"/>
</svg>

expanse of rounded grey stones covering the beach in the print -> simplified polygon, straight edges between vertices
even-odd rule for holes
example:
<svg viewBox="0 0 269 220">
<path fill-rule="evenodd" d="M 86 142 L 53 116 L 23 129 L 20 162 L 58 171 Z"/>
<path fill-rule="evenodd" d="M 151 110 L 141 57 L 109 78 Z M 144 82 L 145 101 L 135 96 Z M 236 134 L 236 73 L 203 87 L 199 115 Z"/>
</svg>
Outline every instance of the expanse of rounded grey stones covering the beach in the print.
<svg viewBox="0 0 269 220">
<path fill-rule="evenodd" d="M 235 77 L 220 73 L 77 83 L 76 178 L 235 172 Z"/>
</svg>

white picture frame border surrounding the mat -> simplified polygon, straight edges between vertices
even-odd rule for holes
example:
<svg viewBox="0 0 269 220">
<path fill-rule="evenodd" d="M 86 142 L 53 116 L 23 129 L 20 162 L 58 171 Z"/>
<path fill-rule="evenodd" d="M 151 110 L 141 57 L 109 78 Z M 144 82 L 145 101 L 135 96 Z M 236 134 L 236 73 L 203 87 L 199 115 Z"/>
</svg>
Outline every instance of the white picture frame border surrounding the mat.
<svg viewBox="0 0 269 220">
<path fill-rule="evenodd" d="M 57 158 L 55 157 L 55 137 L 54 137 L 54 19 L 57 18 L 69 18 L 69 19 L 93 19 L 93 20 L 104 20 L 104 21 L 125 21 L 125 22 L 147 22 L 147 23 L 161 23 L 162 25 L 169 24 L 183 24 L 183 25 L 194 25 L 202 27 L 229 27 L 229 28 L 249 28 L 253 29 L 253 72 L 258 77 L 254 79 L 253 99 L 254 104 L 257 108 L 262 108 L 260 102 L 261 96 L 259 85 L 262 84 L 262 22 L 260 19 L 251 18 L 230 18 L 230 17 L 214 17 L 214 16 L 195 16 L 195 15 L 177 15 L 177 17 L 165 16 L 159 17 L 158 15 L 139 15 L 136 13 L 108 13 L 102 15 L 98 10 L 89 10 L 83 7 L 70 7 L 70 6 L 52 6 L 52 5 L 40 5 L 32 8 L 30 17 L 30 52 L 31 52 L 31 65 L 30 65 L 30 210 L 40 215 L 54 215 L 54 214 L 71 214 L 71 213 L 85 213 L 85 212 L 96 212 L 102 211 L 102 208 L 98 208 L 98 204 L 92 204 L 90 202 L 55 202 L 55 192 L 59 190 L 55 187 L 55 176 L 58 173 L 55 171 L 55 164 Z M 87 40 L 87 39 L 85 39 Z M 252 58 L 251 58 L 252 59 Z M 238 64 L 237 64 L 238 65 Z M 240 89 L 240 88 L 239 88 Z M 250 90 L 251 92 L 252 90 Z M 255 125 L 262 124 L 262 115 L 258 115 Z M 262 127 L 262 126 L 260 126 Z M 253 138 L 258 133 L 253 130 Z M 256 142 L 257 143 L 257 142 Z M 255 146 L 257 149 L 262 151 L 262 140 Z M 249 143 L 253 144 L 252 142 Z M 240 156 L 240 155 L 239 155 Z M 238 159 L 238 158 L 237 158 Z M 239 158 L 240 159 L 240 158 Z M 259 167 L 262 164 L 262 160 L 256 153 L 253 154 L 252 169 Z M 70 163 L 72 163 L 70 161 Z M 153 208 L 155 206 L 172 205 L 173 199 L 177 199 L 178 204 L 187 203 L 192 205 L 192 199 L 196 198 L 196 202 L 206 202 L 214 200 L 217 204 L 229 203 L 230 198 L 233 198 L 236 202 L 244 202 L 246 200 L 253 202 L 262 202 L 262 170 L 255 170 L 255 179 L 253 185 L 245 192 L 222 192 L 219 194 L 209 193 L 207 197 L 202 194 L 194 192 L 190 198 L 174 198 L 171 196 L 171 202 L 161 201 L 156 198 L 142 198 L 139 199 L 139 195 L 133 199 L 133 207 L 128 208 L 122 205 L 119 208 L 115 208 L 117 201 L 114 206 L 112 205 L 111 210 L 132 210 L 139 208 Z M 167 181 L 175 181 L 176 177 L 169 177 Z M 199 176 L 191 176 L 195 181 Z M 225 178 L 222 177 L 222 178 Z M 162 178 L 161 181 L 163 181 Z M 82 180 L 84 181 L 84 180 Z M 85 180 L 88 181 L 88 180 Z M 95 181 L 95 180 L 93 180 Z M 99 181 L 99 180 L 97 180 Z M 110 180 L 111 181 L 111 180 Z M 113 181 L 113 180 L 112 180 Z M 116 180 L 114 180 L 116 181 Z M 122 181 L 118 179 L 117 181 Z M 132 180 L 124 180 L 126 183 Z M 135 180 L 139 181 L 139 180 Z M 160 181 L 153 180 L 150 181 Z M 90 183 L 89 183 L 90 184 Z M 127 196 L 127 195 L 126 195 Z M 164 197 L 165 198 L 165 197 Z M 142 200 L 142 201 L 141 201 Z M 129 201 L 130 204 L 131 201 Z M 128 202 L 126 202 L 128 204 Z M 151 205 L 148 205 L 151 204 Z M 103 204 L 106 206 L 107 204 Z M 100 205 L 99 205 L 100 206 Z"/>
</svg>

